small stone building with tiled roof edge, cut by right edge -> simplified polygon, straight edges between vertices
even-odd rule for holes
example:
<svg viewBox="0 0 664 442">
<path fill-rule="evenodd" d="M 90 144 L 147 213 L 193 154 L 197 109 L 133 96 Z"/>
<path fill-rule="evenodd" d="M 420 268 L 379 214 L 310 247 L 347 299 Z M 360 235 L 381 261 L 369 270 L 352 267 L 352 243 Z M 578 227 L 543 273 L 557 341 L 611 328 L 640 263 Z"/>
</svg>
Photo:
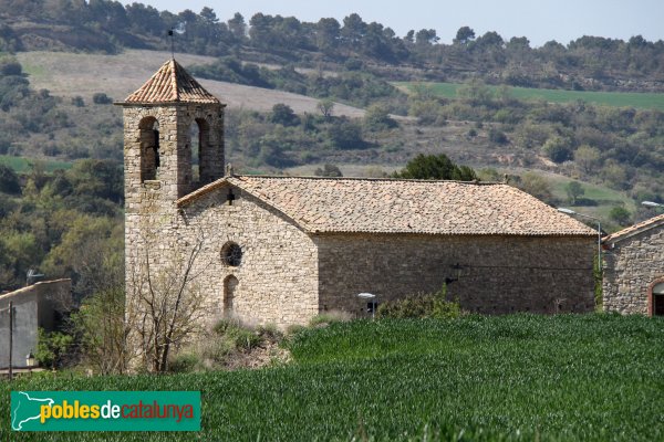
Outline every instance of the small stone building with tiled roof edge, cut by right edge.
<svg viewBox="0 0 664 442">
<path fill-rule="evenodd" d="M 604 309 L 664 315 L 664 214 L 603 239 Z"/>
</svg>

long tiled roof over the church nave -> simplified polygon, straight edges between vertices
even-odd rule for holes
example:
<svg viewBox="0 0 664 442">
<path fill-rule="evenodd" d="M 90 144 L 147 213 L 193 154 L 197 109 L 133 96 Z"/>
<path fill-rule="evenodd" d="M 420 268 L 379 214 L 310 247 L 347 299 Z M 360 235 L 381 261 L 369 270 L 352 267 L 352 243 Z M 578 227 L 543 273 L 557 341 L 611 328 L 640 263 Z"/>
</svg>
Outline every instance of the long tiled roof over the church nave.
<svg viewBox="0 0 664 442">
<path fill-rule="evenodd" d="M 596 231 L 502 183 L 227 177 L 177 201 L 236 186 L 309 232 L 590 236 Z"/>
</svg>

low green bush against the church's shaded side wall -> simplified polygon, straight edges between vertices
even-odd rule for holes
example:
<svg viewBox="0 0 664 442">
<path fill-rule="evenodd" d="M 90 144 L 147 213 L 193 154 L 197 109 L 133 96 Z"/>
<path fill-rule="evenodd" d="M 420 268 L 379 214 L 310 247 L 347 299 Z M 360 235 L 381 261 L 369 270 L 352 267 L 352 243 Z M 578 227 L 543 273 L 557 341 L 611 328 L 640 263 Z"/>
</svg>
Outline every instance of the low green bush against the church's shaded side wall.
<svg viewBox="0 0 664 442">
<path fill-rule="evenodd" d="M 384 318 L 455 318 L 461 315 L 458 301 L 447 301 L 447 285 L 432 294 L 414 294 L 388 301 L 378 306 L 377 317 Z"/>
</svg>

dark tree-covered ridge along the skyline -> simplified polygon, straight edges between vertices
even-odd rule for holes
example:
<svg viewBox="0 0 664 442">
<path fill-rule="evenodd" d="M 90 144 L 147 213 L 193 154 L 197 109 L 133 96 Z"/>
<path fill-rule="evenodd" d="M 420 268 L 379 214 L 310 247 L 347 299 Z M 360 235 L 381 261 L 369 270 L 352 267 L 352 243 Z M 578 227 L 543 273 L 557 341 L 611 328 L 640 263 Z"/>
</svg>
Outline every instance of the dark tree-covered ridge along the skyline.
<svg viewBox="0 0 664 442">
<path fill-rule="evenodd" d="M 210 8 L 178 13 L 114 0 L 2 0 L 0 49 L 55 49 L 115 53 L 123 48 L 169 49 L 175 29 L 178 51 L 279 64 L 363 65 L 393 80 L 463 81 L 469 73 L 487 82 L 568 90 L 662 91 L 664 42 L 641 35 L 629 41 L 584 35 L 567 45 L 549 41 L 531 48 L 526 36 L 476 35 L 469 27 L 443 44 L 434 29 L 396 35 L 388 27 L 351 13 L 324 18 L 236 13 L 224 21 Z M 403 65 L 403 69 L 395 69 Z M 406 77 L 407 76 L 407 77 Z M 405 77 L 405 78 L 404 78 Z"/>
</svg>

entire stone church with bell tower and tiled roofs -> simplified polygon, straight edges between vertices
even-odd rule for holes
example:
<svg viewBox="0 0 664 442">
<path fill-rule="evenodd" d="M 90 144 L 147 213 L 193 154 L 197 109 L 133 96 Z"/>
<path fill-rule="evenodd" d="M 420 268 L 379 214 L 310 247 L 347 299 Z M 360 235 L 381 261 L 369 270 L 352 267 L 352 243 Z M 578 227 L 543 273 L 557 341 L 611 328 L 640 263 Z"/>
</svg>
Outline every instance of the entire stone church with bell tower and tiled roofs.
<svg viewBox="0 0 664 442">
<path fill-rule="evenodd" d="M 127 296 L 198 245 L 209 320 L 362 316 L 360 293 L 380 304 L 444 284 L 470 312 L 593 309 L 595 231 L 511 186 L 235 175 L 225 105 L 175 60 L 118 104 Z"/>
</svg>

